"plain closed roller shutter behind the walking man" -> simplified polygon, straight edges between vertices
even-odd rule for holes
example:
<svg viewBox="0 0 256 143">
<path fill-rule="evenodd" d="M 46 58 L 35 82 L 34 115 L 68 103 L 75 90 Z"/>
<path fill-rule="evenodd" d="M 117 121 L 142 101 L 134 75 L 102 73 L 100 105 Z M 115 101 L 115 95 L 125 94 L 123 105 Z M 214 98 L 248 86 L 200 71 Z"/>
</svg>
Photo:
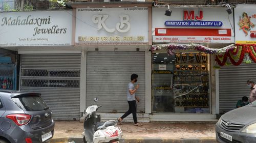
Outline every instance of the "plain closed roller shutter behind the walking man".
<svg viewBox="0 0 256 143">
<path fill-rule="evenodd" d="M 137 112 L 145 112 L 145 52 L 88 52 L 86 105 L 98 97 L 100 112 L 125 112 L 127 84 L 138 74 Z"/>
</svg>

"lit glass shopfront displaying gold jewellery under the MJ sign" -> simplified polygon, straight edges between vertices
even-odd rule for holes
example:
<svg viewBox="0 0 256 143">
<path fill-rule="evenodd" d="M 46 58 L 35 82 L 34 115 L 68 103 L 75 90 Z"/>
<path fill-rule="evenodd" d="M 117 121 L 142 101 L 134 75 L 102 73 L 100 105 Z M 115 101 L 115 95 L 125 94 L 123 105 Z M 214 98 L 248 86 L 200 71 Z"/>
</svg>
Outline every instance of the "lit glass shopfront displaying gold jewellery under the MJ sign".
<svg viewBox="0 0 256 143">
<path fill-rule="evenodd" d="M 208 54 L 152 53 L 152 111 L 209 113 Z"/>
</svg>

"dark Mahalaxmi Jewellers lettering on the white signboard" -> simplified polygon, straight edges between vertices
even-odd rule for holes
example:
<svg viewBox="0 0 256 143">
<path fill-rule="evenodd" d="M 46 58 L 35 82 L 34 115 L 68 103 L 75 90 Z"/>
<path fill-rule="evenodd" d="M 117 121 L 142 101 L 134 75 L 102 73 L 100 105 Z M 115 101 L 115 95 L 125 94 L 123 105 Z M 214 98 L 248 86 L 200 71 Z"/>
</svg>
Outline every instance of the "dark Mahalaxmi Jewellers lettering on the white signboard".
<svg viewBox="0 0 256 143">
<path fill-rule="evenodd" d="M 33 36 L 44 34 L 66 34 L 67 28 L 59 28 L 58 25 L 52 25 L 49 28 L 40 28 L 41 25 L 51 24 L 51 16 L 47 18 L 32 18 L 32 15 L 28 15 L 27 18 L 21 18 L 21 16 L 4 17 L 2 18 L 1 26 L 19 26 L 19 25 L 36 25 L 34 27 Z"/>
</svg>

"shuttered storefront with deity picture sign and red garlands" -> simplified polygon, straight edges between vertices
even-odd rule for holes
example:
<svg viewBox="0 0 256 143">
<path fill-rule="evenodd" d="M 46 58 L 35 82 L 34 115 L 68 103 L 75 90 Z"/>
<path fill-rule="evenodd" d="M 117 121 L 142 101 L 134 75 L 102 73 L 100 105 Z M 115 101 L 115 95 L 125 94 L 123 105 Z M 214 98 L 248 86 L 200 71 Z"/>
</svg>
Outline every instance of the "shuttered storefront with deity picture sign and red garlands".
<svg viewBox="0 0 256 143">
<path fill-rule="evenodd" d="M 219 111 L 223 114 L 236 108 L 243 96 L 249 98 L 247 80 L 255 78 L 256 68 L 256 5 L 234 8 L 234 32 L 237 49 L 217 56 L 219 80 Z"/>
</svg>

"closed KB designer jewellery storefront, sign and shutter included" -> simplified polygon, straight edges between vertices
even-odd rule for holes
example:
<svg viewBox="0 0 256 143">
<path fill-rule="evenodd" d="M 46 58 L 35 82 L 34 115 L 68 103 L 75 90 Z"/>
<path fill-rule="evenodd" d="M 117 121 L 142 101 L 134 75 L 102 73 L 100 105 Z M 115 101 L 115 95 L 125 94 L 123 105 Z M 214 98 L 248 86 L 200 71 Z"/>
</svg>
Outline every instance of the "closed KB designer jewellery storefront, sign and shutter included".
<svg viewBox="0 0 256 143">
<path fill-rule="evenodd" d="M 127 84 L 136 73 L 138 118 L 147 115 L 149 121 L 152 3 L 73 3 L 71 7 L 76 13 L 74 48 L 82 51 L 80 111 L 98 97 L 103 119 L 121 116 L 129 108 Z"/>
</svg>

